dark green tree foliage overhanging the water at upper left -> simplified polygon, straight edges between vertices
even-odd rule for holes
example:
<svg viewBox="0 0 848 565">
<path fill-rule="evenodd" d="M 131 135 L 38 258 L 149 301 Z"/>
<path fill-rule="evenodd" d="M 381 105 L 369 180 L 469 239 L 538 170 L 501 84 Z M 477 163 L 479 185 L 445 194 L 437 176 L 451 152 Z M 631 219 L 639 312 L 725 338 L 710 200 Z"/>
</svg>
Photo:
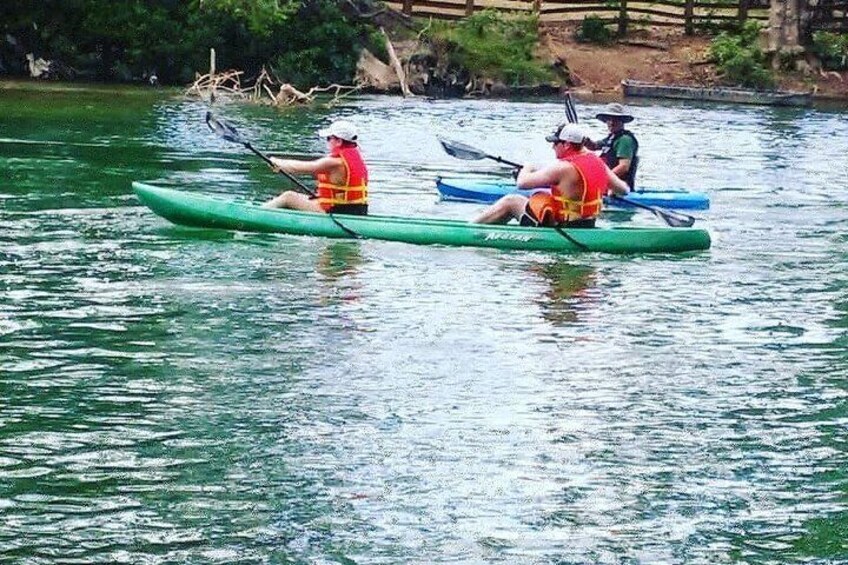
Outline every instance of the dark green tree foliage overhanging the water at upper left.
<svg viewBox="0 0 848 565">
<path fill-rule="evenodd" d="M 372 30 L 333 0 L 18 0 L 0 2 L 0 72 L 24 54 L 60 61 L 83 77 L 134 80 L 156 73 L 185 83 L 208 68 L 248 75 L 273 66 L 311 86 L 352 80 Z M 3 42 L 2 37 L 10 37 Z M 4 64 L 5 62 L 5 64 Z M 286 75 L 292 75 L 289 78 Z"/>
</svg>

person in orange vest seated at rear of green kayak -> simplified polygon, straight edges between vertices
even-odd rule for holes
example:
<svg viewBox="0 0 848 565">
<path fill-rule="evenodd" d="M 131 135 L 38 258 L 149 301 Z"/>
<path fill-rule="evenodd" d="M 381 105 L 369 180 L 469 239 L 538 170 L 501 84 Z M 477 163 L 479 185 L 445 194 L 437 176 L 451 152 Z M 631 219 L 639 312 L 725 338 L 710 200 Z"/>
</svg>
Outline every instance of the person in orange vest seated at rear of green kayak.
<svg viewBox="0 0 848 565">
<path fill-rule="evenodd" d="M 508 194 L 477 216 L 473 223 L 505 224 L 515 218 L 523 226 L 590 228 L 601 213 L 608 190 L 627 194 L 627 183 L 615 176 L 594 153 L 583 147 L 585 132 L 577 124 L 562 124 L 545 139 L 554 146 L 556 162 L 537 169 L 525 165 L 518 188 L 550 187 L 530 198 Z"/>
</svg>

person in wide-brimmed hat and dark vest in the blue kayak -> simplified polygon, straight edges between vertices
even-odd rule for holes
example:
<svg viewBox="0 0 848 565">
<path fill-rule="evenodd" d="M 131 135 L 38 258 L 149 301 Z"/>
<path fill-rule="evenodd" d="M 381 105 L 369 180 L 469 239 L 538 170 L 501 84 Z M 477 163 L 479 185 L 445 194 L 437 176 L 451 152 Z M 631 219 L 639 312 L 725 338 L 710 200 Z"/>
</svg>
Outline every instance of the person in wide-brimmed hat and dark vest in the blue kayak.
<svg viewBox="0 0 848 565">
<path fill-rule="evenodd" d="M 633 116 L 621 104 L 607 104 L 603 111 L 595 115 L 607 124 L 609 135 L 601 141 L 586 139 L 584 145 L 595 151 L 601 150 L 601 159 L 619 178 L 633 190 L 636 185 L 636 168 L 639 165 L 639 142 L 624 124 L 633 121 Z"/>
</svg>

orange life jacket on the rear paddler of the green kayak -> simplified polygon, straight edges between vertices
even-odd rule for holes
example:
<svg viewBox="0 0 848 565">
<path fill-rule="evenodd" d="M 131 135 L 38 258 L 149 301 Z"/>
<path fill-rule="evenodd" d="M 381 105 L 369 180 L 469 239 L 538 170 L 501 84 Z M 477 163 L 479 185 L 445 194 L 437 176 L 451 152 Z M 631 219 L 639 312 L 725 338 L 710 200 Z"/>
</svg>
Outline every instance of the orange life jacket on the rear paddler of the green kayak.
<svg viewBox="0 0 848 565">
<path fill-rule="evenodd" d="M 528 206 L 536 216 L 540 225 L 550 226 L 589 220 L 601 214 L 601 204 L 606 191 L 607 167 L 594 153 L 569 153 L 562 157 L 577 170 L 583 182 L 583 190 L 579 200 L 571 200 L 562 193 L 558 186 L 552 186 L 551 192 L 537 192 L 530 197 Z"/>
</svg>

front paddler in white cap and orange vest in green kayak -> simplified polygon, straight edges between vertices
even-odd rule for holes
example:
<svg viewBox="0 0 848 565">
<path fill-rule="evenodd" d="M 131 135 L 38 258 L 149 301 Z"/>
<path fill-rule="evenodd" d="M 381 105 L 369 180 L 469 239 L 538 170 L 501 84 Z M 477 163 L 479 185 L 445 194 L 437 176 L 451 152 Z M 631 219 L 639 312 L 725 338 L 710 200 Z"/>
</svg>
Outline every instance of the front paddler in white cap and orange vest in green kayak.
<svg viewBox="0 0 848 565">
<path fill-rule="evenodd" d="M 356 127 L 345 120 L 318 131 L 327 140 L 329 155 L 313 161 L 271 157 L 274 169 L 292 174 L 312 174 L 318 181 L 316 196 L 287 190 L 264 204 L 304 212 L 368 214 L 368 168 L 357 145 Z"/>
</svg>

